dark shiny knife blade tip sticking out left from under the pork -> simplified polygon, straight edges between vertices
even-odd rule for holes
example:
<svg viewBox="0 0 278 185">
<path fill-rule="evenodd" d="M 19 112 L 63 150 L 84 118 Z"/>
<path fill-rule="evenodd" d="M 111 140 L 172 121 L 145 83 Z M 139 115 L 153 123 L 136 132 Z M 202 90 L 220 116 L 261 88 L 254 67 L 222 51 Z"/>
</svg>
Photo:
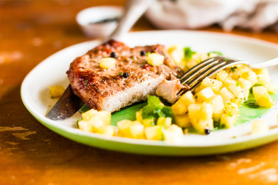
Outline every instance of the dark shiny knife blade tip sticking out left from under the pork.
<svg viewBox="0 0 278 185">
<path fill-rule="evenodd" d="M 71 85 L 69 85 L 46 117 L 54 121 L 62 121 L 72 116 L 83 105 L 84 102 L 74 95 Z"/>
</svg>

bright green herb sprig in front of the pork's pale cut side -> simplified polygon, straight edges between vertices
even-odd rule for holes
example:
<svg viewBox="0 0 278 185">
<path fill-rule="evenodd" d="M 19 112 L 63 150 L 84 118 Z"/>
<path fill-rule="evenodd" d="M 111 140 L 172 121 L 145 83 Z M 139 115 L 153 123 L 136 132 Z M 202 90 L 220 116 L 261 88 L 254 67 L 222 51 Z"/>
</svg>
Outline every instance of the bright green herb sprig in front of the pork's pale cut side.
<svg viewBox="0 0 278 185">
<path fill-rule="evenodd" d="M 171 107 L 162 106 L 158 97 L 148 95 L 148 105 L 142 108 L 143 119 L 158 119 L 162 117 L 171 117 L 172 123 L 175 122 L 174 114 Z"/>
</svg>

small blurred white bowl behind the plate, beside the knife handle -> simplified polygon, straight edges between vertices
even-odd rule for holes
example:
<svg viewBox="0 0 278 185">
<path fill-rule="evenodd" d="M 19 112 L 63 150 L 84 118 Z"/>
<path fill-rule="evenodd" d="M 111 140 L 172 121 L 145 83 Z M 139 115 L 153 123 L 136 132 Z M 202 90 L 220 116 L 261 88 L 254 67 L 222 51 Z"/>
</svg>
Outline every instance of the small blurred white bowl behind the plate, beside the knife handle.
<svg viewBox="0 0 278 185">
<path fill-rule="evenodd" d="M 87 37 L 104 38 L 116 29 L 118 21 L 97 22 L 105 19 L 120 18 L 122 14 L 123 8 L 121 6 L 94 6 L 78 12 L 76 21 Z"/>
</svg>

